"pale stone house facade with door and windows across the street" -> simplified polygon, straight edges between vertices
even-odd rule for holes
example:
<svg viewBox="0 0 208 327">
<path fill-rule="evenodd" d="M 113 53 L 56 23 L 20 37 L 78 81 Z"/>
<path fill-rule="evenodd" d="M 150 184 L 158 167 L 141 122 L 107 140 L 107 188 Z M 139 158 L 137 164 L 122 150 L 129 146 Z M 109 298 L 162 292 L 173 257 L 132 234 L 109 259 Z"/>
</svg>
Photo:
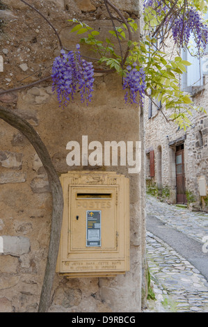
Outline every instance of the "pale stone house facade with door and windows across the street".
<svg viewBox="0 0 208 327">
<path fill-rule="evenodd" d="M 195 75 L 197 75 L 196 66 Z M 201 86 L 189 88 L 195 106 L 207 111 L 207 74 Z M 178 129 L 147 101 L 145 110 L 146 180 L 150 192 L 170 203 L 208 211 L 208 116 L 193 111 L 191 127 Z M 151 110 L 150 110 L 151 109 Z M 162 108 L 168 117 L 168 111 Z M 151 111 L 151 112 L 150 112 Z"/>
</svg>

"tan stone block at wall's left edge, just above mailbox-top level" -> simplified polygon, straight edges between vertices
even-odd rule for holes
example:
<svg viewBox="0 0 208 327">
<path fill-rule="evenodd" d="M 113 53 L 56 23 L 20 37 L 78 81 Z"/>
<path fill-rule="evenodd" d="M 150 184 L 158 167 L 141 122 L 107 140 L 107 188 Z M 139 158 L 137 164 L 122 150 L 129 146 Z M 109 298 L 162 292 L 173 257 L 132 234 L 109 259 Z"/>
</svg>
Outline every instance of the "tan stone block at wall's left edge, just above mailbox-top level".
<svg viewBox="0 0 208 327">
<path fill-rule="evenodd" d="M 0 166 L 12 169 L 22 169 L 22 153 L 0 151 Z"/>
</svg>

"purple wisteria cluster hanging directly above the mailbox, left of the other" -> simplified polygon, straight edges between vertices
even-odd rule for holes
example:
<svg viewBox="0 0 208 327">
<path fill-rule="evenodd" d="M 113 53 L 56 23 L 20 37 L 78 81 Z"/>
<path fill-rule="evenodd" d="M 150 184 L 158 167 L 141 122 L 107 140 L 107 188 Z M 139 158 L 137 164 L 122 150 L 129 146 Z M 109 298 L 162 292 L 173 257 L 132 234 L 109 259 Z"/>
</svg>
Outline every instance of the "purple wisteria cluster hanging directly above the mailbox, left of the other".
<svg viewBox="0 0 208 327">
<path fill-rule="evenodd" d="M 80 46 L 77 51 L 61 50 L 61 56 L 54 60 L 52 67 L 52 90 L 56 92 L 60 106 L 66 106 L 74 99 L 74 93 L 78 90 L 81 95 L 81 102 L 91 101 L 94 82 L 93 63 L 81 59 Z"/>
</svg>

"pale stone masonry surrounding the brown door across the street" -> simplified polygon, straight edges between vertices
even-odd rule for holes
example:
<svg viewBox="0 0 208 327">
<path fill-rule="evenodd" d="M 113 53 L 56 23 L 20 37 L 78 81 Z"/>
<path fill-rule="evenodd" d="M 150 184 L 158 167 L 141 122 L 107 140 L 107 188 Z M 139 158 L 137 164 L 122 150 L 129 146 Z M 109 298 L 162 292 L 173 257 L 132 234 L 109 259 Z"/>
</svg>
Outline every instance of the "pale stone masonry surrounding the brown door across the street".
<svg viewBox="0 0 208 327">
<path fill-rule="evenodd" d="M 203 107 L 207 111 L 207 77 L 205 78 L 205 86 L 200 93 L 193 96 L 193 102 L 198 107 Z M 166 109 L 162 109 L 163 113 L 169 116 Z M 200 196 L 199 179 L 202 177 L 206 180 L 206 188 L 208 187 L 207 174 L 207 136 L 208 136 L 208 117 L 206 113 L 193 111 L 193 115 L 189 117 L 191 127 L 186 131 L 179 130 L 173 122 L 167 122 L 161 111 L 154 110 L 152 118 L 148 119 L 148 102 L 145 110 L 145 149 L 146 157 L 150 149 L 154 150 L 154 177 L 148 177 L 149 168 L 147 170 L 147 182 L 149 184 L 159 183 L 159 170 L 161 169 L 161 179 L 163 189 L 168 189 L 168 200 L 176 202 L 176 173 L 175 173 L 175 146 L 184 143 L 184 170 L 186 177 L 186 193 L 188 196 L 188 205 L 191 209 L 208 210 L 207 196 Z M 161 164 L 157 160 L 161 147 Z M 146 160 L 148 166 L 148 158 Z"/>
</svg>

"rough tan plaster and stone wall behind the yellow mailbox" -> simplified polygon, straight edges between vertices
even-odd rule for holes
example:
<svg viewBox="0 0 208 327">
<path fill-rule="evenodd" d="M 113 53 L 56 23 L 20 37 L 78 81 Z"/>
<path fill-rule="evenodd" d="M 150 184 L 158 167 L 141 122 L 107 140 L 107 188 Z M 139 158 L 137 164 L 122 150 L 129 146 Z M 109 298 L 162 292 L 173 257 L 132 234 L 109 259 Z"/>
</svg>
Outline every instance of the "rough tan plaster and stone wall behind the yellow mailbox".
<svg viewBox="0 0 208 327">
<path fill-rule="evenodd" d="M 113 2 L 113 1 L 112 1 Z M 116 3 L 118 1 L 115 1 Z M 39 15 L 20 1 L 7 1 L 15 20 L 4 26 L 1 44 L 4 70 L 0 88 L 31 83 L 50 74 L 59 47 L 54 31 Z M 78 38 L 70 35 L 67 19 L 80 17 L 89 24 L 100 19 L 106 29 L 111 23 L 101 1 L 31 1 L 51 19 L 63 44 L 74 47 Z M 115 4 L 116 4 L 115 3 Z M 134 6 L 133 6 L 133 4 Z M 131 10 L 131 6 L 133 9 Z M 125 17 L 138 15 L 137 1 L 119 1 Z M 125 11 L 127 10 L 127 11 Z M 20 34 L 19 31 L 22 31 Z M 23 65 L 22 65 L 23 64 Z M 34 72 L 38 72 L 33 74 Z M 39 76 L 38 76 L 39 74 Z M 31 75 L 31 76 L 30 76 Z M 89 106 L 76 96 L 66 109 L 58 108 L 51 83 L 45 82 L 17 94 L 1 97 L 28 120 L 45 142 L 59 174 L 72 169 L 65 158 L 67 142 L 88 135 L 88 142 L 139 141 L 139 112 L 126 106 L 120 78 L 97 74 L 95 92 Z M 0 255 L 0 311 L 34 312 L 38 309 L 49 242 L 51 193 L 45 170 L 35 150 L 13 127 L 0 121 L 0 231 L 13 239 L 13 255 Z M 77 168 L 77 167 L 76 167 Z M 78 167 L 82 169 L 83 167 Z M 77 169 L 78 169 L 77 168 Z M 85 167 L 92 169 L 91 166 Z M 145 248 L 145 224 L 140 175 L 129 175 L 127 167 L 100 167 L 115 170 L 130 179 L 131 271 L 117 278 L 67 278 L 56 274 L 50 311 L 52 312 L 137 312 L 141 310 L 141 270 Z M 29 244 L 17 252 L 18 237 Z M 22 239 L 21 239 L 22 240 Z"/>
</svg>

